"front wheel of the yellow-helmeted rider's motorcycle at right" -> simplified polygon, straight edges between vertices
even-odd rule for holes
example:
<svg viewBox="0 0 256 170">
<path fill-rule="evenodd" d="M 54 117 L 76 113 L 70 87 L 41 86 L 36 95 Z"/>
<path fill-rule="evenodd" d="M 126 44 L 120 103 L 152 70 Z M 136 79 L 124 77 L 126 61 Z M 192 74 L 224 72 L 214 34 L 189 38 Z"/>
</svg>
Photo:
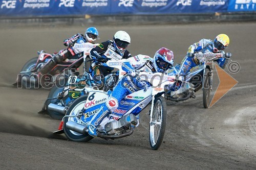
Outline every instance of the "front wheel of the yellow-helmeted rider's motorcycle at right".
<svg viewBox="0 0 256 170">
<path fill-rule="evenodd" d="M 208 68 L 205 69 L 204 73 L 205 78 L 203 79 L 203 104 L 204 108 L 209 108 L 210 106 L 210 70 Z"/>
</svg>

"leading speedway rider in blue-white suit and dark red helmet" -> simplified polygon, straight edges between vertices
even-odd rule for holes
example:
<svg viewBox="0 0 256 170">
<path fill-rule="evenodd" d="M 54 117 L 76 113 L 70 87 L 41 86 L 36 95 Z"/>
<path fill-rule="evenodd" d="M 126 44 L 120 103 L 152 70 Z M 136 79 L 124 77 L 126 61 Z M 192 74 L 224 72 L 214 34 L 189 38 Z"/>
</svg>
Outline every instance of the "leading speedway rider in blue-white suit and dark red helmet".
<svg viewBox="0 0 256 170">
<path fill-rule="evenodd" d="M 109 99 L 104 103 L 101 109 L 93 116 L 91 122 L 88 125 L 88 133 L 91 136 L 97 136 L 97 127 L 102 122 L 104 117 L 110 115 L 118 107 L 119 102 L 125 98 L 126 95 L 139 91 L 150 86 L 150 83 L 142 81 L 135 72 L 146 71 L 149 73 L 162 72 L 166 74 L 168 68 L 173 67 L 174 55 L 173 52 L 167 48 L 160 48 L 154 58 L 149 56 L 137 55 L 127 59 L 122 69 L 127 72 L 127 76 L 124 76 L 113 89 L 113 92 L 109 96 Z M 141 110 L 138 110 L 138 113 Z"/>
</svg>

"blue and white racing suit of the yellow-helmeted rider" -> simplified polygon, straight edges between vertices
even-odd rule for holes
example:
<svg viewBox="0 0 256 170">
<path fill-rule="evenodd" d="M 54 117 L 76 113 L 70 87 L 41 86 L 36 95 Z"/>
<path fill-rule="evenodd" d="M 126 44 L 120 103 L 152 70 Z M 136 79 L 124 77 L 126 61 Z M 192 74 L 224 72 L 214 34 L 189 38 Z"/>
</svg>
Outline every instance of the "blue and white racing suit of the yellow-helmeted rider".
<svg viewBox="0 0 256 170">
<path fill-rule="evenodd" d="M 198 59 L 194 57 L 195 53 L 224 53 L 223 51 L 214 52 L 214 42 L 210 39 L 201 39 L 188 47 L 187 55 L 181 62 L 179 75 L 186 75 L 191 68 L 199 65 Z M 225 68 L 228 60 L 220 58 L 216 60 L 221 68 Z"/>
</svg>

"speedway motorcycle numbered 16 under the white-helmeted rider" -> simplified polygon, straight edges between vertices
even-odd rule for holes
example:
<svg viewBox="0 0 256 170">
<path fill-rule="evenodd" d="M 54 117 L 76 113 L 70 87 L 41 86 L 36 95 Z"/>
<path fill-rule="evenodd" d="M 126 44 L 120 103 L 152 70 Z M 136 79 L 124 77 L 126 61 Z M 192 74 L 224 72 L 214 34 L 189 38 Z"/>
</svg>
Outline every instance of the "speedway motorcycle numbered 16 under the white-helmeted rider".
<svg viewBox="0 0 256 170">
<path fill-rule="evenodd" d="M 103 91 L 112 90 L 118 80 L 124 75 L 122 61 L 125 59 L 119 61 L 111 57 L 107 59 L 106 65 L 116 69 L 116 71 L 104 77 Z M 49 114 L 54 119 L 62 119 L 72 102 L 79 98 L 79 96 L 88 93 L 88 87 L 95 89 L 97 85 L 91 74 L 87 71 L 84 71 L 82 76 L 70 75 L 69 79 L 64 79 L 51 88 L 42 110 L 38 113 Z"/>
</svg>

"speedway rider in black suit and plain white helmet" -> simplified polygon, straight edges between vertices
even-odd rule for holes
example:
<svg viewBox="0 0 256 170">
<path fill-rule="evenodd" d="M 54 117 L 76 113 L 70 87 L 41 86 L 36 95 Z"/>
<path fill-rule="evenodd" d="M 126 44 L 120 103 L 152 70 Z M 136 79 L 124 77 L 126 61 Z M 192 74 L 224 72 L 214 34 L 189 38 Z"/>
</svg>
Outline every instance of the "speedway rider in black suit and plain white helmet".
<svg viewBox="0 0 256 170">
<path fill-rule="evenodd" d="M 117 31 L 112 40 L 101 42 L 98 46 L 92 48 L 90 57 L 94 59 L 90 67 L 93 79 L 97 82 L 97 88 L 102 89 L 104 86 L 104 76 L 111 74 L 113 70 L 105 64 L 107 58 L 115 60 L 127 59 L 132 57 L 127 46 L 131 43 L 130 35 L 125 31 Z"/>
</svg>

